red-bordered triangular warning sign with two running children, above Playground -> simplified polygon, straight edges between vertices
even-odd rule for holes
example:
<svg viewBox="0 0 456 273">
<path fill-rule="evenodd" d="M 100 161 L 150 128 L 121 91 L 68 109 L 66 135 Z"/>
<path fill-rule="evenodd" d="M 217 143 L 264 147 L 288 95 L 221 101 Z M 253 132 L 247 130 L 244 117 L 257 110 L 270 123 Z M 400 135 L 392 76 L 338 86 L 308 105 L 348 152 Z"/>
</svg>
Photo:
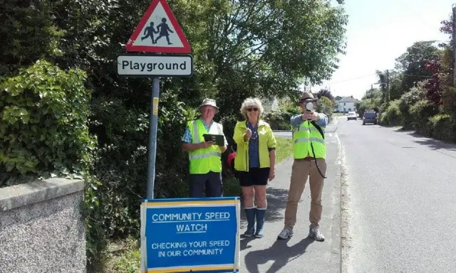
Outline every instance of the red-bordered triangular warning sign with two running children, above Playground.
<svg viewBox="0 0 456 273">
<path fill-rule="evenodd" d="M 192 50 L 165 0 L 152 1 L 125 49 L 155 53 L 190 53 Z"/>
</svg>

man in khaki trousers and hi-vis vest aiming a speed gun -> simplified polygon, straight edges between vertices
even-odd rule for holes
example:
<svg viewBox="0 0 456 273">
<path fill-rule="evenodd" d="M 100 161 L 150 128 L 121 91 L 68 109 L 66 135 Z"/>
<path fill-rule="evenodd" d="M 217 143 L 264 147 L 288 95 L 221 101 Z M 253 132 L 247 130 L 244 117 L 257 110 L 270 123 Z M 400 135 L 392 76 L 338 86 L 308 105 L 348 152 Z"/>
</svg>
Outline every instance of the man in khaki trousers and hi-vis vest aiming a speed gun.
<svg viewBox="0 0 456 273">
<path fill-rule="evenodd" d="M 314 95 L 304 92 L 299 101 L 302 114 L 291 117 L 293 127 L 293 155 L 294 163 L 291 169 L 291 182 L 288 193 L 288 202 L 285 210 L 285 227 L 278 239 L 288 239 L 293 236 L 296 224 L 296 212 L 309 176 L 311 190 L 311 211 L 309 220 L 309 237 L 324 241 L 318 223 L 321 219 L 321 191 L 323 180 L 326 178 L 326 144 L 324 132 L 328 117 L 326 114 L 314 112 L 316 107 Z"/>
</svg>

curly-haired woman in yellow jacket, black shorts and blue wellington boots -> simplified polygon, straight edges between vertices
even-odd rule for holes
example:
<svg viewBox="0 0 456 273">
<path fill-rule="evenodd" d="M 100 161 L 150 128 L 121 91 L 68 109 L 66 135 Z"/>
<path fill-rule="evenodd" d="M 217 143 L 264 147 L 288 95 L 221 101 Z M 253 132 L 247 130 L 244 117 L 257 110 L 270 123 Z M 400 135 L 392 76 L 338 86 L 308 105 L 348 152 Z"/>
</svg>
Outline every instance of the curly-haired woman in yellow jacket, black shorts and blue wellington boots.
<svg viewBox="0 0 456 273">
<path fill-rule="evenodd" d="M 234 168 L 239 173 L 244 210 L 247 215 L 245 237 L 263 237 L 264 213 L 266 213 L 266 185 L 274 179 L 276 139 L 269 124 L 261 120 L 263 107 L 257 98 L 242 102 L 241 113 L 246 118 L 234 127 L 237 144 Z M 254 205 L 254 196 L 257 207 Z M 257 229 L 255 230 L 255 218 Z"/>
</svg>

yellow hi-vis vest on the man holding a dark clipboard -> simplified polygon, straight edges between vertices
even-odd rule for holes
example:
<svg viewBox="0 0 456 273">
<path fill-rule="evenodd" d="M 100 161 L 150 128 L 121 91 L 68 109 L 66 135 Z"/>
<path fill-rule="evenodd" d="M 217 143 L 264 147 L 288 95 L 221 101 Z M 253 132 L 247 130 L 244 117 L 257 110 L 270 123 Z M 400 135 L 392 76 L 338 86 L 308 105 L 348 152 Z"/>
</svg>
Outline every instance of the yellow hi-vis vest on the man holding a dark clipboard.
<svg viewBox="0 0 456 273">
<path fill-rule="evenodd" d="M 203 134 L 223 134 L 222 125 L 212 122 L 207 132 L 201 119 L 188 122 L 187 126 L 192 134 L 192 143 L 204 141 Z M 190 159 L 190 174 L 204 174 L 213 171 L 219 173 L 222 171 L 222 154 L 219 146 L 212 145 L 204 149 L 197 149 L 188 152 Z"/>
</svg>

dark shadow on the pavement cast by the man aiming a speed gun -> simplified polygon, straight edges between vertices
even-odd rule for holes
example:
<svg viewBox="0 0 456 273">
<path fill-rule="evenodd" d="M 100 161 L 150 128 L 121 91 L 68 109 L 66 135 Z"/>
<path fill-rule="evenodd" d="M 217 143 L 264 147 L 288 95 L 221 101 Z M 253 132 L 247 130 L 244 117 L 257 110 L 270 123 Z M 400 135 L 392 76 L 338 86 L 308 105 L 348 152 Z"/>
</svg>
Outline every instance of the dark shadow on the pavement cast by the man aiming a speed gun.
<svg viewBox="0 0 456 273">
<path fill-rule="evenodd" d="M 288 262 L 297 257 L 301 256 L 306 252 L 307 247 L 314 242 L 313 239 L 306 237 L 296 245 L 288 246 L 287 240 L 276 240 L 271 247 L 266 250 L 256 250 L 247 253 L 245 255 L 245 265 L 247 267 L 247 272 L 250 273 L 259 273 L 259 264 L 266 264 L 269 261 L 274 261 L 274 263 L 261 273 L 274 273 L 279 271 L 284 267 Z M 242 242 L 241 242 L 242 245 Z"/>
</svg>

